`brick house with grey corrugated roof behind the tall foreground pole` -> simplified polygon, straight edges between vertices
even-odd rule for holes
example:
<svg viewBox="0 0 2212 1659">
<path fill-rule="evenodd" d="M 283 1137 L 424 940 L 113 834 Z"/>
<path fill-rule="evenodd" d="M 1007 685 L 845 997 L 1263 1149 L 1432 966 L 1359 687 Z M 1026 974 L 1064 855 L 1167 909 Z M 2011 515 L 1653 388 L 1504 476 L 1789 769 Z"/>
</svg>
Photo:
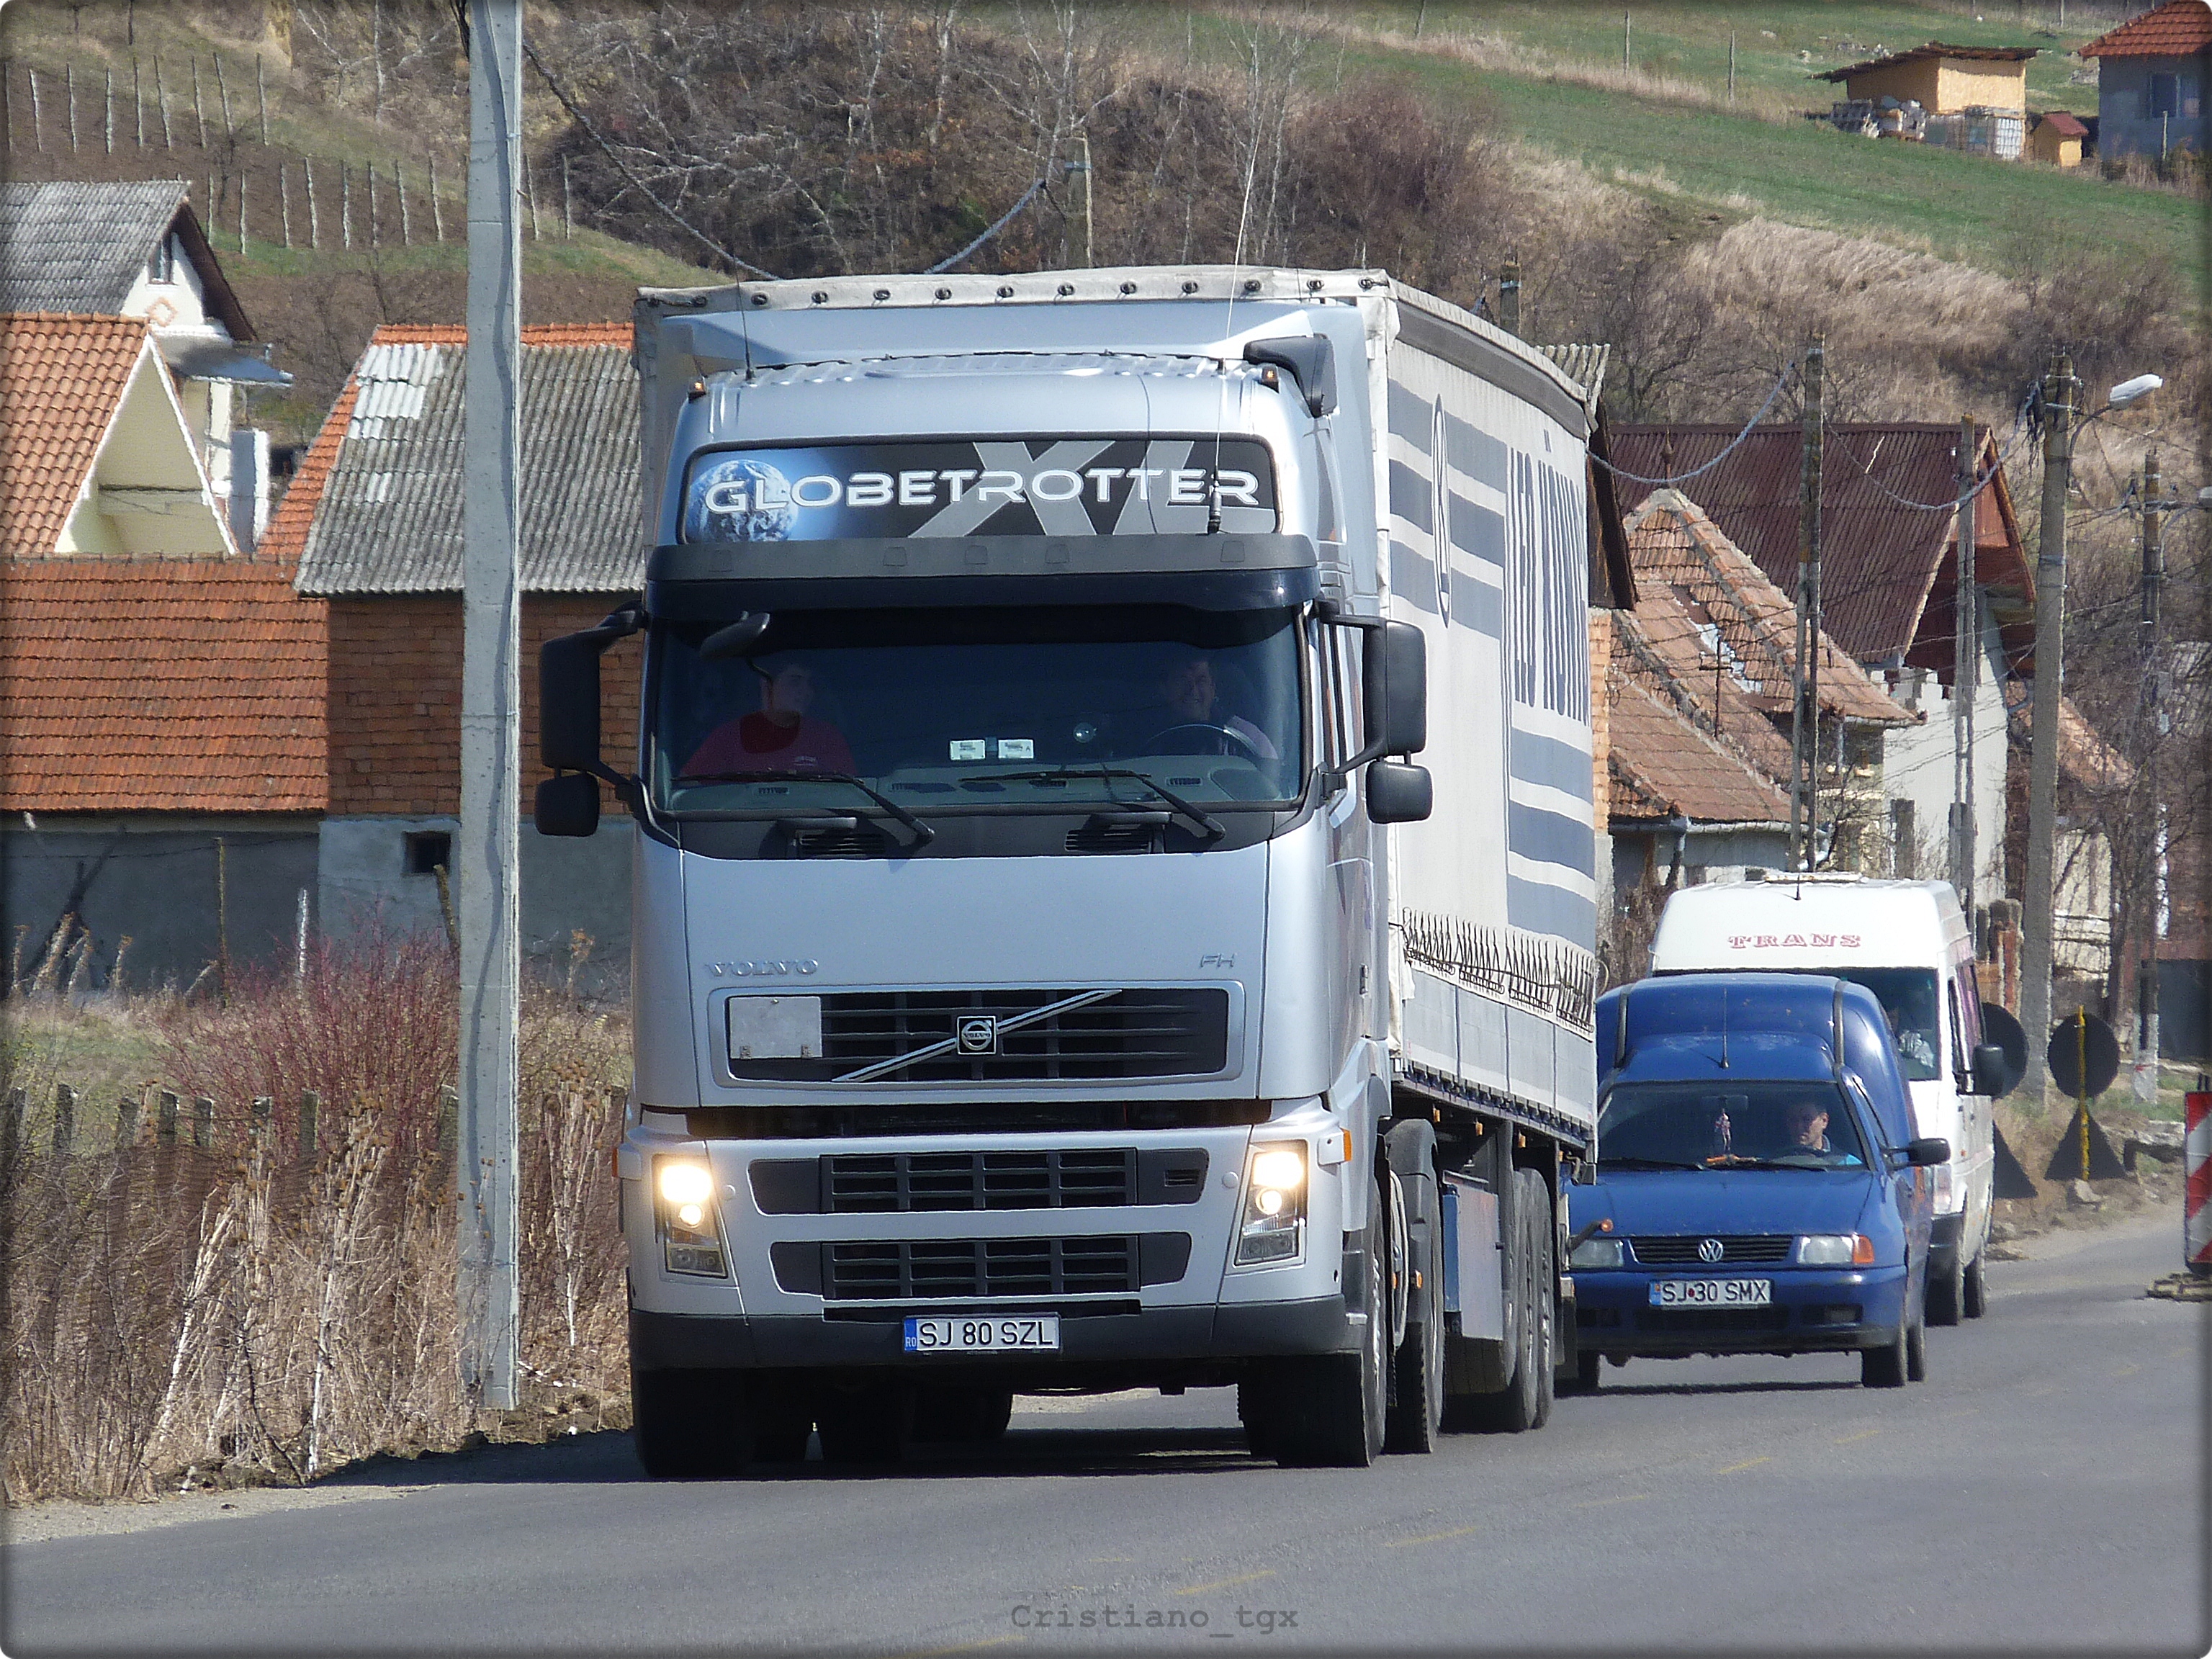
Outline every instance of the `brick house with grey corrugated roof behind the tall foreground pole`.
<svg viewBox="0 0 2212 1659">
<path fill-rule="evenodd" d="M 467 332 L 376 330 L 263 549 L 330 611 L 327 818 L 319 914 L 438 929 L 438 867 L 460 827 L 462 389 Z M 637 374 L 628 323 L 522 330 L 522 796 L 538 781 L 538 646 L 599 622 L 644 582 Z M 606 655 L 606 730 L 637 721 L 637 644 Z M 628 956 L 630 823 L 522 827 L 524 947 Z"/>
</svg>

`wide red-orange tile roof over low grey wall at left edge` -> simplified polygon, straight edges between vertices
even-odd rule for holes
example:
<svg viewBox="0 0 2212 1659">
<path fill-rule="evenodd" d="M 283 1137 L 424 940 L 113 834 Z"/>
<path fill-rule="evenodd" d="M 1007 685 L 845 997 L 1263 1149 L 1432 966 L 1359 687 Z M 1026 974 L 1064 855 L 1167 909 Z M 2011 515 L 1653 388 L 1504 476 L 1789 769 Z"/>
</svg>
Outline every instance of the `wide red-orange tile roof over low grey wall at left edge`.
<svg viewBox="0 0 2212 1659">
<path fill-rule="evenodd" d="M 327 653 L 276 564 L 0 564 L 0 812 L 321 812 Z"/>
</svg>

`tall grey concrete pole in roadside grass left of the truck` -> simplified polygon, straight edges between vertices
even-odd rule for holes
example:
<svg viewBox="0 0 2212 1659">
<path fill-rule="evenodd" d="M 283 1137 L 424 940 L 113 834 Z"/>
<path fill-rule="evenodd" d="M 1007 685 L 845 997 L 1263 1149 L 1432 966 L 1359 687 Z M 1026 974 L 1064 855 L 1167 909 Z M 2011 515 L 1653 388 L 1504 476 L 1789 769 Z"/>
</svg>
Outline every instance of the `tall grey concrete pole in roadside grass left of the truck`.
<svg viewBox="0 0 2212 1659">
<path fill-rule="evenodd" d="M 460 666 L 460 1371 L 515 1405 L 522 978 L 522 0 L 469 0 L 469 358 Z"/>
</svg>

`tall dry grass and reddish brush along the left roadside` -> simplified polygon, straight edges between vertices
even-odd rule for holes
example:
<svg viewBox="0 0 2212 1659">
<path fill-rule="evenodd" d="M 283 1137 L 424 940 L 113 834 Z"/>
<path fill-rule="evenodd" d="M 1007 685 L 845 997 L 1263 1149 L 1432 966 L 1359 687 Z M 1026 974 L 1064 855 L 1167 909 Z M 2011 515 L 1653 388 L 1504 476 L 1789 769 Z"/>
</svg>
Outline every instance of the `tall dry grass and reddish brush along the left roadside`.
<svg viewBox="0 0 2212 1659">
<path fill-rule="evenodd" d="M 7 1115 L 7 1502 L 139 1498 L 195 1482 L 310 1480 L 487 1427 L 458 1376 L 451 1115 L 456 987 L 442 945 L 327 949 L 307 982 L 228 1009 L 150 1006 L 164 1077 L 221 1108 L 195 1146 L 159 1113 L 126 1144 L 58 1155 Z M 82 1015 L 55 1015 L 82 1018 Z M 117 1018 L 117 1015 L 106 1015 Z M 22 1022 L 20 1022 L 22 1024 Z M 20 1064 L 18 1064 L 20 1062 Z M 11 1088 L 38 1044 L 9 1046 Z M 608 1146 L 626 1031 L 557 989 L 522 1022 L 526 1411 L 593 1413 L 626 1389 Z M 301 1133 L 299 1091 L 321 1095 Z M 254 1097 L 272 1108 L 257 1113 Z M 148 1095 L 148 1106 L 157 1095 Z M 42 1126 L 31 1126 L 42 1128 Z"/>
</svg>

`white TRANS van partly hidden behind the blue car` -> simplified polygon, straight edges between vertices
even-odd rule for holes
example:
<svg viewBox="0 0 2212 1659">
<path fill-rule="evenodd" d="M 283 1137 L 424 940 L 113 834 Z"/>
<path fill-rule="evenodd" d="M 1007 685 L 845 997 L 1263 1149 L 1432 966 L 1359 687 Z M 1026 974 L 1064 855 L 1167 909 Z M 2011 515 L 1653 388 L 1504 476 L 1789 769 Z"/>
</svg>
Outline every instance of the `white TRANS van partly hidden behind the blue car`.
<svg viewBox="0 0 2212 1659">
<path fill-rule="evenodd" d="M 1973 938 L 1951 885 L 1778 872 L 1683 887 L 1659 916 L 1652 973 L 1714 969 L 1834 973 L 1880 998 L 1913 1095 L 1913 1133 L 1951 1141 L 1951 1161 L 1936 1168 L 1929 1323 L 1980 1318 L 1995 1166 L 1991 1106 L 2006 1079 L 2002 1064 L 1975 1053 L 1989 1037 L 1973 984 Z"/>
</svg>

